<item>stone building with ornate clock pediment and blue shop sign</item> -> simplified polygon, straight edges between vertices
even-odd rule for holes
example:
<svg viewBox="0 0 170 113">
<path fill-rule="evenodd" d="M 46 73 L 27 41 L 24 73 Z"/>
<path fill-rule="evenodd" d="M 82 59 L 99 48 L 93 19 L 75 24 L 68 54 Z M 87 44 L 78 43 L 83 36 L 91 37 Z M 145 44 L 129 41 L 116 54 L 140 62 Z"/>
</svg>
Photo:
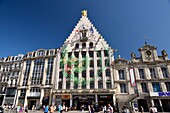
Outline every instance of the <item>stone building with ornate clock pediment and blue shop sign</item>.
<svg viewBox="0 0 170 113">
<path fill-rule="evenodd" d="M 145 44 L 139 48 L 140 57 L 131 54 L 131 60 L 118 58 L 113 63 L 116 100 L 134 109 L 140 106 L 149 111 L 170 112 L 170 60 L 165 50 L 158 56 L 156 47 Z"/>
</svg>

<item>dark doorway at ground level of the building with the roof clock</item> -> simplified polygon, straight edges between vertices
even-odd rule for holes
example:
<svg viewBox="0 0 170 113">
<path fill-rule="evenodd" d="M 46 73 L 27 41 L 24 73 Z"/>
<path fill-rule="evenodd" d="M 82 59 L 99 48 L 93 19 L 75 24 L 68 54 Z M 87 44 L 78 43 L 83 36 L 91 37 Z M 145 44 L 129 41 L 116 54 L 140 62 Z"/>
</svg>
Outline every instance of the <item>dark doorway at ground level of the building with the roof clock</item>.
<svg viewBox="0 0 170 113">
<path fill-rule="evenodd" d="M 144 112 L 148 112 L 148 111 L 149 111 L 149 109 L 148 109 L 148 104 L 147 104 L 147 101 L 146 101 L 146 100 L 144 100 L 144 99 L 138 99 L 137 101 L 138 101 L 138 109 L 139 109 L 139 112 L 141 112 L 141 107 L 140 107 L 140 106 L 143 107 Z"/>
</svg>

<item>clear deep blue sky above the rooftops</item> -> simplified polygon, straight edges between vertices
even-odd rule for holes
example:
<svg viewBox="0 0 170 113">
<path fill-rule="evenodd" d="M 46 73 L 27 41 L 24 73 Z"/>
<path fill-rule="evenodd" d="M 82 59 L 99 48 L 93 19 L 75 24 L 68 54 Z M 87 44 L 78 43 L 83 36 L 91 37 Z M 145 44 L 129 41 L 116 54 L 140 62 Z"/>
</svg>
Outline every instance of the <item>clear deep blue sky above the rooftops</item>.
<svg viewBox="0 0 170 113">
<path fill-rule="evenodd" d="M 0 58 L 59 48 L 83 9 L 121 57 L 139 56 L 144 33 L 159 55 L 170 53 L 170 0 L 0 0 Z"/>
</svg>

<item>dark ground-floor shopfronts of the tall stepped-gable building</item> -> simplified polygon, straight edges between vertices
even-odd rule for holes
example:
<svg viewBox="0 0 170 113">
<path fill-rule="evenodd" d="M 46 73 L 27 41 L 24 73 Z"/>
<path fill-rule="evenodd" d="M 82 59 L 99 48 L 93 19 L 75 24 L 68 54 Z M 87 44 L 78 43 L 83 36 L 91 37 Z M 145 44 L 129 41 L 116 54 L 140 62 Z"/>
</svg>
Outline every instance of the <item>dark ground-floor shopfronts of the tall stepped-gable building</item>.
<svg viewBox="0 0 170 113">
<path fill-rule="evenodd" d="M 52 104 L 58 106 L 64 104 L 65 107 L 74 110 L 80 110 L 82 106 L 88 109 L 88 105 L 98 104 L 100 108 L 111 104 L 114 106 L 114 94 L 96 94 L 96 93 L 75 93 L 75 94 L 54 94 Z"/>
</svg>

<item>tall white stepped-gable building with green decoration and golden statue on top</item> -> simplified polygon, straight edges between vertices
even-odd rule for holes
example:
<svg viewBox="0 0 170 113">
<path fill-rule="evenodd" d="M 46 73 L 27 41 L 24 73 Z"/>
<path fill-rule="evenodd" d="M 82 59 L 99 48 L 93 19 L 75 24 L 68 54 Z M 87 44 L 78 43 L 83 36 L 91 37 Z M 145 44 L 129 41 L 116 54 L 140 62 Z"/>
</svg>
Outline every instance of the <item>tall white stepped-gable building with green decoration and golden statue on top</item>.
<svg viewBox="0 0 170 113">
<path fill-rule="evenodd" d="M 53 105 L 114 104 L 113 49 L 82 11 L 82 17 L 57 52 Z"/>
</svg>

